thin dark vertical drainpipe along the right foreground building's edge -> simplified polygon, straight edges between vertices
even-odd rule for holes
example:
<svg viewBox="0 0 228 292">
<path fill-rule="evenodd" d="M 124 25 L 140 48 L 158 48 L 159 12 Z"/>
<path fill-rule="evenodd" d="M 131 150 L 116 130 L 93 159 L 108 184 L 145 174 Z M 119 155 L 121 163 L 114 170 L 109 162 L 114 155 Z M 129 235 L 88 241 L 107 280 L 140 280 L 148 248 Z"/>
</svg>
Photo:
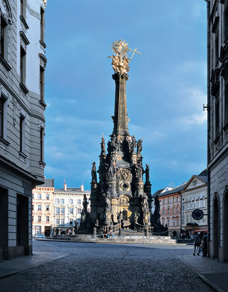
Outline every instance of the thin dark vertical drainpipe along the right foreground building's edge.
<svg viewBox="0 0 228 292">
<path fill-rule="evenodd" d="M 210 243 L 210 172 L 209 172 L 209 138 L 210 138 L 210 34 L 209 34 L 209 16 L 210 16 L 210 0 L 204 0 L 207 2 L 207 251 L 208 257 L 210 256 L 209 243 Z"/>
</svg>

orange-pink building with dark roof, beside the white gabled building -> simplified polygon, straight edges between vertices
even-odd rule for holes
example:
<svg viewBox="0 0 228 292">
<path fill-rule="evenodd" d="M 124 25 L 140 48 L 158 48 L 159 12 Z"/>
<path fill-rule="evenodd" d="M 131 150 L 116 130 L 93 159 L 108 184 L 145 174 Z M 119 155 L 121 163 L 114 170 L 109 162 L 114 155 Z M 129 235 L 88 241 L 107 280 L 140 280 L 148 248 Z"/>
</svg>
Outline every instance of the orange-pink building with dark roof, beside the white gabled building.
<svg viewBox="0 0 228 292">
<path fill-rule="evenodd" d="M 181 195 L 185 183 L 177 188 L 165 188 L 158 195 L 160 199 L 160 220 L 171 232 L 181 229 Z"/>
</svg>

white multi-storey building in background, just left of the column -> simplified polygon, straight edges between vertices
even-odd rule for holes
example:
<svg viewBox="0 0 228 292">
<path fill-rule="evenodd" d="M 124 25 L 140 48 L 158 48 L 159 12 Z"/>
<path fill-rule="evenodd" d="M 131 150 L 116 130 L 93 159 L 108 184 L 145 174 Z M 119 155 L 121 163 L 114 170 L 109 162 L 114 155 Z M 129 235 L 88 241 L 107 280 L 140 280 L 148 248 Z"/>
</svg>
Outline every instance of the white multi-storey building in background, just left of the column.
<svg viewBox="0 0 228 292">
<path fill-rule="evenodd" d="M 66 231 L 68 228 L 78 226 L 81 223 L 81 212 L 83 210 L 83 196 L 88 199 L 88 211 L 90 211 L 90 191 L 81 188 L 68 188 L 64 182 L 63 188 L 54 191 L 53 203 L 53 228 Z"/>
</svg>

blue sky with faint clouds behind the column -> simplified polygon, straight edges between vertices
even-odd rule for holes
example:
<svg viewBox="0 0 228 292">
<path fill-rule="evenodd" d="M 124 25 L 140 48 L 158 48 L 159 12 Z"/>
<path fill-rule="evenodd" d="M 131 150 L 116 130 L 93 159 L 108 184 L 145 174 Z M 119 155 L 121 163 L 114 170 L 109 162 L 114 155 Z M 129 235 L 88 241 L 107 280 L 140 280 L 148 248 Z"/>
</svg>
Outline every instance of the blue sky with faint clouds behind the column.
<svg viewBox="0 0 228 292">
<path fill-rule="evenodd" d="M 207 21 L 203 0 L 48 0 L 45 176 L 55 188 L 90 190 L 102 135 L 113 131 L 110 49 L 125 40 L 142 55 L 127 81 L 131 135 L 143 138 L 152 193 L 207 166 Z"/>
</svg>

